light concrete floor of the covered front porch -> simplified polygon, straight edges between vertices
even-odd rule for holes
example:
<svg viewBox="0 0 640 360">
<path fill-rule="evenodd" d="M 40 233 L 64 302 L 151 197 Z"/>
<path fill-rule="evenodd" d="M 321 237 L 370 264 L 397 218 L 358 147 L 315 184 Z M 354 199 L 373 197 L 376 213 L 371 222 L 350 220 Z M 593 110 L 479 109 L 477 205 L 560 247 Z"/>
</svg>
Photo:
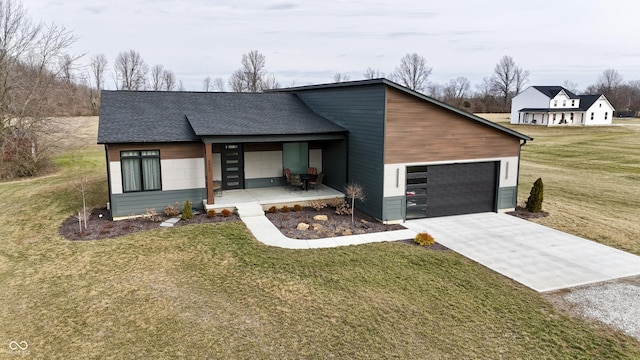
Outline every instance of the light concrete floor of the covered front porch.
<svg viewBox="0 0 640 360">
<path fill-rule="evenodd" d="M 203 201 L 205 210 L 237 209 L 239 204 L 259 204 L 263 210 L 271 206 L 284 205 L 306 206 L 314 200 L 342 199 L 344 194 L 329 186 L 321 186 L 312 190 L 293 190 L 287 186 L 271 186 L 252 189 L 235 189 L 216 191 L 215 203 Z"/>
</svg>

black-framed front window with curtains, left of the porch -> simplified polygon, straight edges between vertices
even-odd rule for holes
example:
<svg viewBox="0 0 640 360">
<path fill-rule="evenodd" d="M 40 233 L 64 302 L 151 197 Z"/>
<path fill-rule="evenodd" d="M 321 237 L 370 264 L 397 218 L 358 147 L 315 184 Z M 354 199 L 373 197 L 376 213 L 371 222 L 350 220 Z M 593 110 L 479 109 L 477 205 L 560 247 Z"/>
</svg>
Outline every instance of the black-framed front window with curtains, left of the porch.
<svg viewBox="0 0 640 360">
<path fill-rule="evenodd" d="M 124 192 L 162 190 L 160 150 L 121 151 Z"/>
</svg>

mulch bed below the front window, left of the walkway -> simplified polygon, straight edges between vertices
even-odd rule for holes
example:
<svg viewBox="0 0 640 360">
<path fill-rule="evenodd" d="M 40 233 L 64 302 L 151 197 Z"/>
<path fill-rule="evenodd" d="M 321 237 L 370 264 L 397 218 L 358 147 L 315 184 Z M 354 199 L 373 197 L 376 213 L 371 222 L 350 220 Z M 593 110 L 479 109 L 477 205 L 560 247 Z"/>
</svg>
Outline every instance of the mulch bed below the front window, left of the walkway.
<svg viewBox="0 0 640 360">
<path fill-rule="evenodd" d="M 87 229 L 80 230 L 78 219 L 75 216 L 69 217 L 62 223 L 58 232 L 60 235 L 69 240 L 98 240 L 113 238 L 117 236 L 127 235 L 138 231 L 157 229 L 162 221 L 169 217 L 160 214 L 157 221 L 145 218 L 135 218 L 127 220 L 111 221 L 109 220 L 109 210 L 94 209 L 91 212 Z M 189 221 L 178 221 L 174 226 L 187 226 L 204 223 L 217 223 L 224 221 L 240 221 L 236 214 L 224 217 L 220 214 L 215 217 L 208 217 L 206 214 L 196 214 Z"/>
</svg>

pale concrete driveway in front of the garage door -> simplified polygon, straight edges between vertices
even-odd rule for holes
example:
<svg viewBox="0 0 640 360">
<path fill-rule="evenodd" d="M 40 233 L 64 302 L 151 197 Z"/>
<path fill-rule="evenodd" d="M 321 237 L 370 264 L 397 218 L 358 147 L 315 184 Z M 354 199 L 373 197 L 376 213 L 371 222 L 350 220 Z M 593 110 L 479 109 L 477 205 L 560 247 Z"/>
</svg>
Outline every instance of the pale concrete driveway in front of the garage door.
<svg viewBox="0 0 640 360">
<path fill-rule="evenodd" d="M 640 275 L 640 256 L 511 215 L 408 220 L 449 249 L 538 292 Z"/>
</svg>

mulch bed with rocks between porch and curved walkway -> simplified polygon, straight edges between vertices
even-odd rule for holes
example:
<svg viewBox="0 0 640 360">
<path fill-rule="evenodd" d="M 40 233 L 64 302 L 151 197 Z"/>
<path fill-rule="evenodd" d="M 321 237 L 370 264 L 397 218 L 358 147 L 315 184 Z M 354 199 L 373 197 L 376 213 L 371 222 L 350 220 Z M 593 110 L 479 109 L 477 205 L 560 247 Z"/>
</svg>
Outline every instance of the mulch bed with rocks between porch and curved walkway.
<svg viewBox="0 0 640 360">
<path fill-rule="evenodd" d="M 351 215 L 337 215 L 331 207 L 320 210 L 303 207 L 300 211 L 278 211 L 266 215 L 285 236 L 292 239 L 320 239 L 405 229 L 399 224 L 385 225 L 358 210 L 354 213 L 352 223 Z M 327 220 L 314 220 L 316 215 L 324 215 Z M 309 225 L 309 228 L 298 229 L 300 223 Z"/>
</svg>

